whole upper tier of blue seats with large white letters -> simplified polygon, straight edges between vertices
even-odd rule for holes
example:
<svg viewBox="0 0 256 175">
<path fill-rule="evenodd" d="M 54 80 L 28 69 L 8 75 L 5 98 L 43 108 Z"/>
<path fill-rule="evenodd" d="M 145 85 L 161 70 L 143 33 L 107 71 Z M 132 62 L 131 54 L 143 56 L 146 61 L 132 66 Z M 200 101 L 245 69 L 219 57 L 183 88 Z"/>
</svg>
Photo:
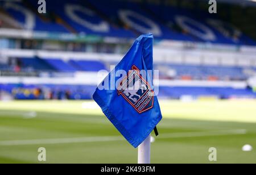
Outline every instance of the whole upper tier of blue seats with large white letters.
<svg viewBox="0 0 256 175">
<path fill-rule="evenodd" d="M 27 30 L 76 32 L 90 35 L 135 38 L 152 32 L 156 39 L 249 44 L 255 41 L 237 27 L 207 12 L 170 6 L 112 1 L 49 1 L 47 15 L 36 13 L 37 2 L 1 2 L 3 9 Z M 55 7 L 58 7 L 57 9 Z"/>
</svg>

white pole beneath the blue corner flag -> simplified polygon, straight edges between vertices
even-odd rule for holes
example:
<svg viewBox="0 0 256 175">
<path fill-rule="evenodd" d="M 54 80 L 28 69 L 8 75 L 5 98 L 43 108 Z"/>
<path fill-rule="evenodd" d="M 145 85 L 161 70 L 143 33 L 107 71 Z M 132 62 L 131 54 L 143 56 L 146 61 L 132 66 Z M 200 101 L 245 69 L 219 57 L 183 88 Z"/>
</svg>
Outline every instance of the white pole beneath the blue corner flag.
<svg viewBox="0 0 256 175">
<path fill-rule="evenodd" d="M 150 164 L 150 138 L 149 135 L 138 148 L 138 164 Z"/>
</svg>

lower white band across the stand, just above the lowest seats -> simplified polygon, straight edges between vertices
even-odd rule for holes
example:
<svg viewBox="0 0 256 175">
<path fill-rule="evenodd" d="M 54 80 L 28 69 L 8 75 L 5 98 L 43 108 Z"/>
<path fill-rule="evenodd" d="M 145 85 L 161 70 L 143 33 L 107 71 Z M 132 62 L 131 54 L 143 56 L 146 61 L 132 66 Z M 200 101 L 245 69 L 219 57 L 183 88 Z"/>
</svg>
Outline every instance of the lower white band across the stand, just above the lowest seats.
<svg viewBox="0 0 256 175">
<path fill-rule="evenodd" d="M 79 73 L 74 77 L 0 77 L 0 84 L 27 84 L 27 85 L 93 85 L 97 86 L 104 79 L 97 73 Z M 184 81 L 159 80 L 155 86 L 168 87 L 233 87 L 245 89 L 246 81 Z"/>
</svg>

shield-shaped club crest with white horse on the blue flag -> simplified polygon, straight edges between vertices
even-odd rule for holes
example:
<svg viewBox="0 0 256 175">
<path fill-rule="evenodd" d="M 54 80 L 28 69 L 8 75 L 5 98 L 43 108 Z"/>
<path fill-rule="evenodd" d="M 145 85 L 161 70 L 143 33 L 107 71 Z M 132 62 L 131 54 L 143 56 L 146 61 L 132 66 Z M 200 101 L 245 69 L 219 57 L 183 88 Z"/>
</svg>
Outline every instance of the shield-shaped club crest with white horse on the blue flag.
<svg viewBox="0 0 256 175">
<path fill-rule="evenodd" d="M 120 82 L 117 92 L 139 114 L 150 110 L 154 106 L 154 91 L 141 74 L 139 74 L 139 69 L 135 65 L 133 65 L 132 70 Z"/>
</svg>

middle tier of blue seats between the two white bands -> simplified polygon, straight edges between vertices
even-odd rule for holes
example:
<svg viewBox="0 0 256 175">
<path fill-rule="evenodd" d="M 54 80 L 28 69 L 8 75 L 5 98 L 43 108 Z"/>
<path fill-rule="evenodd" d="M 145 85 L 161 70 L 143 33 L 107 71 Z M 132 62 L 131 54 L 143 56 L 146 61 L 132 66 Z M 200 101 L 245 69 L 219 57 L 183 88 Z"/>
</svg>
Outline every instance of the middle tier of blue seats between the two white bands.
<svg viewBox="0 0 256 175">
<path fill-rule="evenodd" d="M 96 60 L 68 60 L 61 59 L 39 59 L 39 58 L 20 58 L 23 70 L 34 70 L 37 72 L 98 72 L 108 70 L 107 65 L 111 65 Z M 163 66 L 174 72 L 169 76 Z M 210 77 L 216 77 L 216 80 L 247 80 L 250 76 L 246 74 L 245 69 L 253 70 L 255 68 L 242 66 L 209 66 L 209 65 L 180 65 L 180 64 L 155 64 L 155 68 L 160 70 L 160 74 L 174 79 L 190 77 L 191 80 L 208 80 Z M 1 64 L 0 70 L 7 70 L 7 64 Z M 214 78 L 213 78 L 214 79 Z"/>
</svg>

